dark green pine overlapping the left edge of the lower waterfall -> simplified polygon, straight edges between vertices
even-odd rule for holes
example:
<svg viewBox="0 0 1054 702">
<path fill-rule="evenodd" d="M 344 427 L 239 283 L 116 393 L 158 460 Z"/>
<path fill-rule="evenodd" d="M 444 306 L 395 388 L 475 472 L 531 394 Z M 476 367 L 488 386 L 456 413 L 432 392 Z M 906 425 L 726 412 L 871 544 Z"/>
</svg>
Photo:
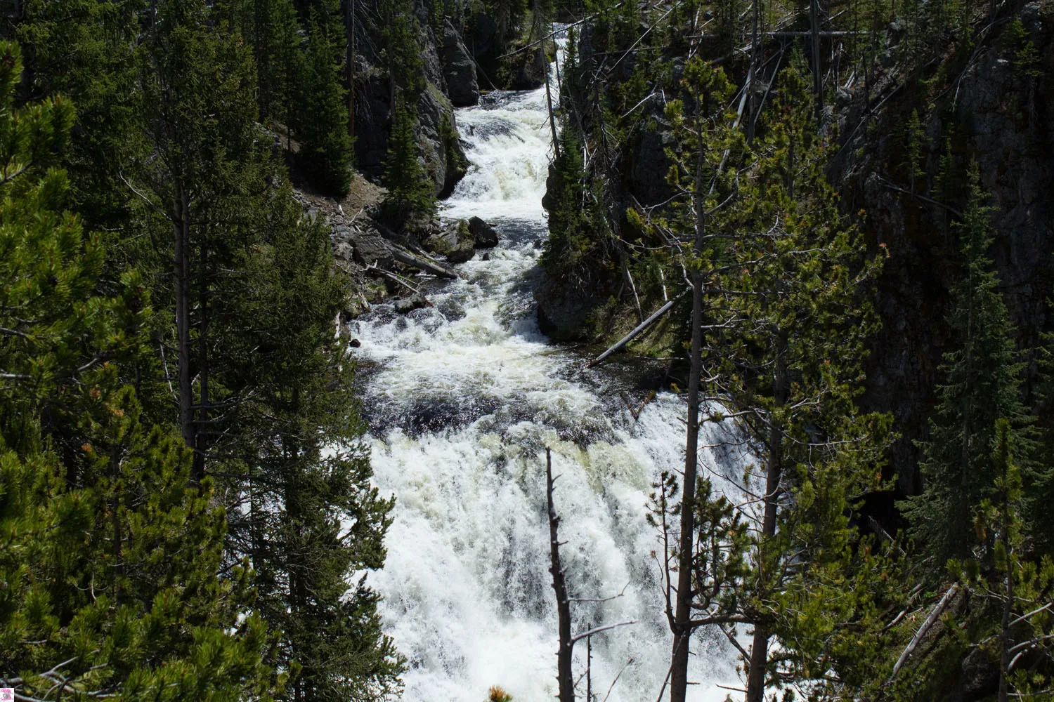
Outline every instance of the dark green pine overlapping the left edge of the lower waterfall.
<svg viewBox="0 0 1054 702">
<path fill-rule="evenodd" d="M 370 485 L 368 449 L 352 393 L 353 367 L 333 320 L 347 282 L 337 275 L 321 222 L 276 195 L 269 236 L 247 263 L 256 281 L 239 317 L 254 330 L 254 400 L 241 412 L 230 487 L 229 551 L 258 573 L 258 607 L 280 630 L 279 656 L 296 665 L 289 699 L 378 699 L 398 688 L 402 662 L 380 630 L 378 596 L 366 577 L 380 568 L 392 501 Z"/>
</svg>

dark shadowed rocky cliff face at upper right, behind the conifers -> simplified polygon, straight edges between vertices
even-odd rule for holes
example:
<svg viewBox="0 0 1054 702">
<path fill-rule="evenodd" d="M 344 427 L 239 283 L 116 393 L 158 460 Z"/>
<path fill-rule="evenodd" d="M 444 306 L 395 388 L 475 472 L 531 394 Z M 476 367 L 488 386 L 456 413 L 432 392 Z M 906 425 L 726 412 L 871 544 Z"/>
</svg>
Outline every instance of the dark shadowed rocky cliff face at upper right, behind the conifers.
<svg viewBox="0 0 1054 702">
<path fill-rule="evenodd" d="M 895 71 L 876 86 L 865 114 L 862 95 L 836 113 L 845 135 L 831 176 L 846 212 L 864 210 L 863 226 L 874 250 L 889 252 L 879 281 L 882 329 L 875 339 L 867 374 L 870 407 L 892 412 L 902 434 L 894 468 L 904 493 L 918 487 L 918 449 L 939 382 L 937 366 L 951 350 L 948 290 L 960 275 L 955 219 L 962 193 L 939 192 L 941 158 L 951 158 L 959 179 L 976 160 L 989 194 L 996 233 L 990 252 L 1002 282 L 1022 348 L 1034 347 L 1052 327 L 1048 299 L 1054 293 L 1054 7 L 1031 2 L 1017 12 L 1027 39 L 1038 49 L 1032 69 L 1019 64 L 1021 46 L 1006 35 L 985 39 L 965 63 L 949 60 L 930 75 L 905 80 Z M 1004 20 L 997 32 L 1004 32 Z M 943 69 L 938 74 L 938 71 Z M 933 76 L 944 75 L 943 81 Z M 932 94 L 930 100 L 926 92 Z M 905 164 L 904 128 L 918 105 L 924 129 L 925 178 L 915 195 Z"/>
</svg>

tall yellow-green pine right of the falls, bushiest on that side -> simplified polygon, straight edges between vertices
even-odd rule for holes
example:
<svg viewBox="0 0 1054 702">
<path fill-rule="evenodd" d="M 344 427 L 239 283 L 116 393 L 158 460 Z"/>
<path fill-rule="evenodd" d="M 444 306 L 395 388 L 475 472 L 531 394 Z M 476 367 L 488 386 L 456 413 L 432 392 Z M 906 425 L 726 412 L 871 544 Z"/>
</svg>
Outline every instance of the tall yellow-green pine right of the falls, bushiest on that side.
<svg viewBox="0 0 1054 702">
<path fill-rule="evenodd" d="M 880 485 L 891 438 L 887 416 L 857 406 L 881 261 L 840 214 L 805 80 L 786 69 L 779 88 L 758 147 L 757 189 L 747 186 L 729 213 L 729 230 L 757 234 L 729 244 L 718 274 L 728 294 L 718 293 L 717 304 L 737 323 L 710 337 L 722 394 L 745 410 L 763 464 L 752 701 L 779 684 L 780 668 L 823 686 L 825 667 L 856 640 L 844 623 L 874 619 L 885 589 L 881 562 L 857 549 L 850 521 L 855 500 Z M 851 579 L 859 596 L 835 597 Z M 766 655 L 767 637 L 780 653 Z"/>
</svg>

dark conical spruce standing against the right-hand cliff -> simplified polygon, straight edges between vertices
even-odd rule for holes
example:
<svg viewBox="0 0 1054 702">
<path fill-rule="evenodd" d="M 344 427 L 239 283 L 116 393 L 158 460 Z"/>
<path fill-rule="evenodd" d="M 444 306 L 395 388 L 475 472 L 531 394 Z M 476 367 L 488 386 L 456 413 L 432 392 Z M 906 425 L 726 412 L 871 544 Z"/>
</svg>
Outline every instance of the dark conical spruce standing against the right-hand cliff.
<svg viewBox="0 0 1054 702">
<path fill-rule="evenodd" d="M 949 323 L 955 349 L 939 367 L 943 382 L 930 421 L 930 437 L 919 443 L 922 493 L 904 503 L 916 540 L 938 561 L 967 557 L 977 539 L 974 512 L 994 482 L 991 449 L 997 419 L 1012 423 L 1019 435 L 1024 409 L 1020 399 L 1021 362 L 1014 346 L 1014 328 L 992 270 L 989 217 L 976 164 L 969 175 L 970 195 L 961 223 L 960 250 L 964 269 L 952 287 Z"/>
</svg>

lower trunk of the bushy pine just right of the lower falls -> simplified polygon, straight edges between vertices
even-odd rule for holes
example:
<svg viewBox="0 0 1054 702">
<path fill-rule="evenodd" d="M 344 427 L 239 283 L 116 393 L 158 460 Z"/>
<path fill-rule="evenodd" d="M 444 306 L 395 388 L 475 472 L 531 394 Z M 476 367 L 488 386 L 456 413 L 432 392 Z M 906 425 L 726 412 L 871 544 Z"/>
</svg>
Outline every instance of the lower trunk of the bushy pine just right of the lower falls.
<svg viewBox="0 0 1054 702">
<path fill-rule="evenodd" d="M 776 372 L 773 377 L 773 396 L 776 410 L 786 403 L 787 399 L 786 339 L 777 335 L 776 338 Z M 761 523 L 761 554 L 758 562 L 762 571 L 759 580 L 764 587 L 765 542 L 776 534 L 776 516 L 779 504 L 780 475 L 783 473 L 783 436 L 776 418 L 768 428 L 768 463 L 765 469 L 765 516 Z M 765 670 L 768 667 L 768 638 L 772 635 L 763 622 L 754 625 L 754 642 L 750 646 L 750 663 L 746 677 L 745 702 L 762 702 L 765 697 Z"/>
</svg>

